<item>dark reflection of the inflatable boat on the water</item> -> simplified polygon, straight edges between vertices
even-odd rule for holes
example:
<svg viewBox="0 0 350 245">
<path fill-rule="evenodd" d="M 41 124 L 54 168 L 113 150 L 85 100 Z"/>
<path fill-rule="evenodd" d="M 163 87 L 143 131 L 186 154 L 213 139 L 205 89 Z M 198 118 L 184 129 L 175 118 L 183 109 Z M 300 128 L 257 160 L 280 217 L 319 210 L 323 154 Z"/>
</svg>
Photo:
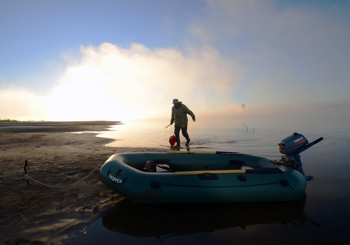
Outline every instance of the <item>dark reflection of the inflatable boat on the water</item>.
<svg viewBox="0 0 350 245">
<path fill-rule="evenodd" d="M 304 214 L 305 203 L 306 194 L 299 201 L 230 204 L 151 205 L 124 199 L 102 217 L 102 224 L 126 235 L 158 239 L 255 224 L 303 225 L 309 221 L 321 226 Z"/>
</svg>

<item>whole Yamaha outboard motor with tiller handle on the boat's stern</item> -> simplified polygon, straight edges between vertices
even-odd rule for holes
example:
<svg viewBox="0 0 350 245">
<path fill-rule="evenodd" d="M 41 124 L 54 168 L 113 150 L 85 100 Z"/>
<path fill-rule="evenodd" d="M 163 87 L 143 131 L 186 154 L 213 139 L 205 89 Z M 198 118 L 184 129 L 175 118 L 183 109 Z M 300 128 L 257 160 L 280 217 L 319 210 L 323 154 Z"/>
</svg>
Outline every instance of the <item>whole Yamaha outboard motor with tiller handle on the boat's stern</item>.
<svg viewBox="0 0 350 245">
<path fill-rule="evenodd" d="M 287 138 L 281 140 L 278 144 L 280 146 L 280 152 L 286 156 L 281 157 L 281 164 L 295 168 L 297 171 L 302 173 L 304 176 L 303 168 L 301 167 L 300 152 L 305 151 L 314 144 L 320 142 L 323 138 L 316 139 L 314 142 L 309 143 L 308 140 L 301 134 L 294 133 Z M 306 180 L 312 180 L 313 176 L 305 176 Z"/>
</svg>

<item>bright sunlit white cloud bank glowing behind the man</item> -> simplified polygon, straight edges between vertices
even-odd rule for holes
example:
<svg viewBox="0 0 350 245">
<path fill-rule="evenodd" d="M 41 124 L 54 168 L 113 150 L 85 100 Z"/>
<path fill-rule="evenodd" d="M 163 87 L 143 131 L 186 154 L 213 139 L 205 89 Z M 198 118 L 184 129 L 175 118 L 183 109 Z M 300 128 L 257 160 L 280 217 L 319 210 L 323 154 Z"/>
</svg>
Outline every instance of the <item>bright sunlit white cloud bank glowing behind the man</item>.
<svg viewBox="0 0 350 245">
<path fill-rule="evenodd" d="M 65 72 L 49 94 L 34 95 L 16 87 L 2 90 L 1 103 L 6 106 L 1 115 L 31 120 L 159 117 L 169 114 L 173 98 L 199 112 L 214 102 L 220 107 L 226 101 L 217 98 L 229 98 L 239 83 L 233 74 L 238 69 L 231 69 L 230 61 L 210 46 L 181 52 L 103 43 L 82 46 L 78 56 L 65 58 Z"/>
</svg>

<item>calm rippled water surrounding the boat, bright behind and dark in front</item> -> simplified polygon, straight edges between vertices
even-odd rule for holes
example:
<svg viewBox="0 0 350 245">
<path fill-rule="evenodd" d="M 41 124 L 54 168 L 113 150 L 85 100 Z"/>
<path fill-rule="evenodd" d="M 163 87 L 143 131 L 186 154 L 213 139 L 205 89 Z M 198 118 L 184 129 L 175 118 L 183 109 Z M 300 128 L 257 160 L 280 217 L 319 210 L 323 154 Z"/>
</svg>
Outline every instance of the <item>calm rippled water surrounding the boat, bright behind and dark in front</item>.
<svg viewBox="0 0 350 245">
<path fill-rule="evenodd" d="M 121 127 L 120 127 L 121 126 Z M 165 125 L 166 126 L 166 125 Z M 164 127 L 163 127 L 164 128 Z M 104 137 L 113 146 L 169 148 L 170 127 L 116 126 Z M 235 151 L 279 159 L 278 143 L 294 131 L 320 143 L 302 152 L 308 181 L 304 199 L 295 202 L 138 205 L 124 200 L 109 215 L 75 233 L 71 244 L 339 244 L 348 243 L 350 130 L 194 129 L 190 150 Z M 181 136 L 182 137 L 182 136 Z M 184 145 L 184 138 L 181 144 Z M 186 150 L 184 147 L 181 150 Z"/>
</svg>

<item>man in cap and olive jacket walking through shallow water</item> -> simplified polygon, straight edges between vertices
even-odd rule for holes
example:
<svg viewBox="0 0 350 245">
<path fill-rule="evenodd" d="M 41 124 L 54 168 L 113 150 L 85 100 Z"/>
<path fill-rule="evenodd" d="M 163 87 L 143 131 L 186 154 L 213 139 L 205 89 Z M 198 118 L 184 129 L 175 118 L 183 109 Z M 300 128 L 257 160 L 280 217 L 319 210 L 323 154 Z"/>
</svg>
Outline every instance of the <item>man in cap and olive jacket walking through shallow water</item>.
<svg viewBox="0 0 350 245">
<path fill-rule="evenodd" d="M 187 134 L 187 114 L 192 117 L 192 120 L 195 122 L 196 118 L 193 112 L 187 108 L 181 101 L 179 102 L 178 99 L 173 100 L 173 108 L 172 108 L 172 119 L 170 120 L 170 124 L 173 124 L 175 121 L 174 126 L 174 133 L 175 133 L 175 139 L 176 139 L 176 146 L 180 147 L 180 129 L 182 132 L 183 137 L 186 138 L 186 146 L 190 143 L 190 137 Z"/>
</svg>

